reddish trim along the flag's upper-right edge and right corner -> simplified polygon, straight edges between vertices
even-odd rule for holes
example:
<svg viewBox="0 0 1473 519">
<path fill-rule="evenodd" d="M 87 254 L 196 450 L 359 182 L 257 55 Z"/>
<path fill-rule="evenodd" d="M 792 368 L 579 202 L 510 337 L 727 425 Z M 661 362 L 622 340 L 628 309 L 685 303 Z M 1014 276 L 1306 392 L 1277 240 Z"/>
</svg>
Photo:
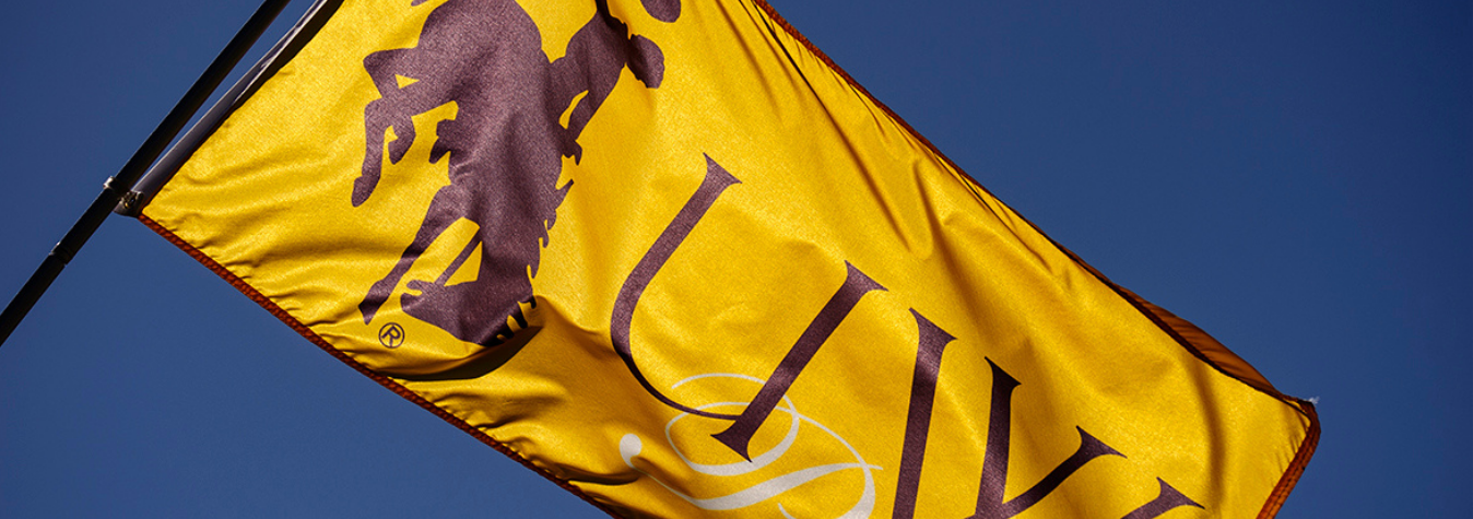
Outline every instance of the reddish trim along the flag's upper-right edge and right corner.
<svg viewBox="0 0 1473 519">
<path fill-rule="evenodd" d="M 809 41 L 807 37 L 798 32 L 797 28 L 788 24 L 788 21 L 782 18 L 782 15 L 778 15 L 778 10 L 772 9 L 772 6 L 767 4 L 766 0 L 751 0 L 751 1 L 759 9 L 762 9 L 762 12 L 766 13 L 773 24 L 787 31 L 788 35 L 791 35 L 794 40 L 798 40 L 798 43 L 801 43 L 804 49 L 807 49 L 810 53 L 813 53 L 813 56 L 816 56 L 819 60 L 822 60 L 825 65 L 834 69 L 835 74 L 844 78 L 844 81 L 848 83 L 850 87 L 853 87 L 856 91 L 869 99 L 871 103 L 875 103 L 875 106 L 884 111 L 885 115 L 890 115 L 890 118 L 894 119 L 897 124 L 900 124 L 900 127 L 904 128 L 907 133 L 910 133 L 912 137 L 921 142 L 921 144 L 925 144 L 925 147 L 929 149 L 931 153 L 935 153 L 935 156 L 941 158 L 941 161 L 946 161 L 946 164 L 952 167 L 952 170 L 962 174 L 962 177 L 966 178 L 969 183 L 968 187 L 980 190 L 997 199 L 997 196 L 988 192 L 987 187 L 982 187 L 982 184 L 977 181 L 977 178 L 972 178 L 972 175 L 963 171 L 959 165 L 956 165 L 956 162 L 952 162 L 952 158 L 946 156 L 946 153 L 941 153 L 941 150 L 937 149 L 929 139 L 925 139 L 925 136 L 922 136 L 919 131 L 910 127 L 910 124 L 906 122 L 904 118 L 901 118 L 899 114 L 891 111 L 890 106 L 885 106 L 885 103 L 882 103 L 879 99 L 871 94 L 869 90 L 865 88 L 865 86 L 859 84 L 859 81 L 854 81 L 854 78 L 848 75 L 848 72 L 846 72 L 843 66 L 834 63 L 834 60 L 829 59 L 828 55 L 819 50 L 818 46 L 815 46 L 812 41 Z M 1021 214 L 1018 215 L 1018 218 L 1022 218 L 1022 221 L 1025 221 L 1030 227 L 1033 227 L 1034 231 L 1049 239 L 1049 243 L 1053 243 L 1053 246 L 1066 254 L 1069 260 L 1072 260 L 1080 267 L 1089 270 L 1090 274 L 1093 274 L 1096 279 L 1105 283 L 1105 286 L 1109 286 L 1112 290 L 1115 290 L 1115 293 L 1118 293 L 1121 298 L 1124 298 L 1133 307 L 1136 307 L 1137 311 L 1140 311 L 1143 316 L 1156 323 L 1156 327 L 1159 327 L 1162 332 L 1175 339 L 1177 344 L 1181 345 L 1181 348 L 1184 348 L 1186 351 L 1189 351 L 1193 357 L 1196 357 L 1198 360 L 1206 363 L 1212 369 L 1218 370 L 1223 375 L 1227 375 L 1234 380 L 1243 382 L 1248 386 L 1258 389 L 1259 392 L 1264 392 L 1270 397 L 1283 401 L 1284 404 L 1289 404 L 1290 407 L 1298 410 L 1299 414 L 1302 414 L 1305 419 L 1309 420 L 1309 429 L 1305 432 L 1304 441 L 1299 444 L 1299 448 L 1295 453 L 1293 460 L 1284 469 L 1284 475 L 1279 479 L 1279 484 L 1274 487 L 1274 491 L 1268 495 L 1268 501 L 1264 504 L 1264 509 L 1258 515 L 1258 518 L 1271 519 L 1274 515 L 1277 515 L 1279 509 L 1289 497 L 1289 492 L 1293 490 L 1295 484 L 1299 482 L 1299 476 L 1304 475 L 1304 469 L 1309 464 L 1309 459 L 1314 457 L 1315 447 L 1320 442 L 1320 416 L 1318 413 L 1315 413 L 1314 404 L 1279 392 L 1279 389 L 1276 389 L 1273 383 L 1268 382 L 1267 377 L 1258 373 L 1258 370 L 1255 370 L 1251 364 L 1248 364 L 1248 361 L 1245 361 L 1242 357 L 1237 357 L 1237 354 L 1234 354 L 1226 345 L 1209 336 L 1202 329 L 1196 327 L 1196 324 L 1192 324 L 1187 320 L 1171 314 L 1165 308 L 1150 304 L 1149 301 L 1136 295 L 1134 292 L 1130 292 L 1125 288 L 1115 285 L 1108 277 L 1105 277 L 1103 273 L 1084 262 L 1084 260 L 1081 260 L 1077 254 L 1074 254 L 1064 245 L 1059 245 L 1059 242 L 1055 242 L 1053 237 L 1049 237 L 1049 234 L 1044 233 L 1043 229 L 1038 229 L 1037 224 L 1034 224 Z"/>
</svg>

